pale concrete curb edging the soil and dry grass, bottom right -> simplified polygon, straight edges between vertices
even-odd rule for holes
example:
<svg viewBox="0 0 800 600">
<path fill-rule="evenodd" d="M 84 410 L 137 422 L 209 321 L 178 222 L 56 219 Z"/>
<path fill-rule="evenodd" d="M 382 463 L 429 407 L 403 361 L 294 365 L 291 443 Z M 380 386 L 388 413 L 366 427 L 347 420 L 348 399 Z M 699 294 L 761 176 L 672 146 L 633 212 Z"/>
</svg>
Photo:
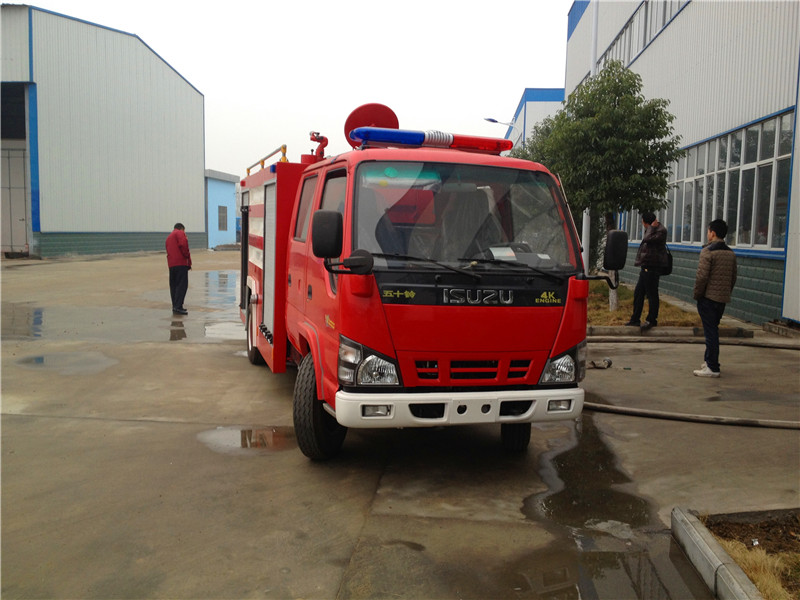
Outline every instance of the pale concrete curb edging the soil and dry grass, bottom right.
<svg viewBox="0 0 800 600">
<path fill-rule="evenodd" d="M 716 598 L 764 600 L 741 567 L 688 509 L 672 509 L 672 535 Z"/>
</svg>

